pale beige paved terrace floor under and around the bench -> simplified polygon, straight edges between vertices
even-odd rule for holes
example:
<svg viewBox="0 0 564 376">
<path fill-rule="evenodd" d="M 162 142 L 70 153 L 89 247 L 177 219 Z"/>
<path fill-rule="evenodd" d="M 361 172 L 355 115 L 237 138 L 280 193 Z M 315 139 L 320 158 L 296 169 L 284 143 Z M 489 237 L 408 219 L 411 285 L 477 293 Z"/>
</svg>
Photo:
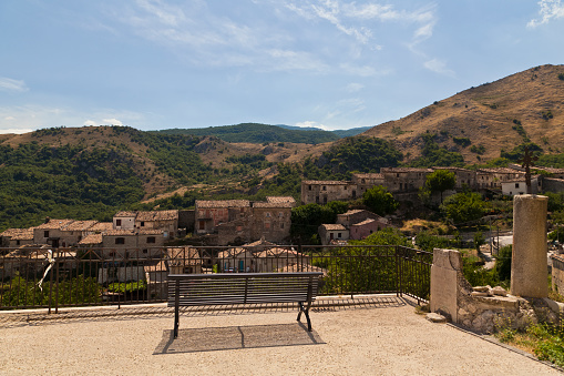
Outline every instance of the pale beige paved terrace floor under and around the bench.
<svg viewBox="0 0 564 376">
<path fill-rule="evenodd" d="M 0 314 L 0 375 L 556 375 L 551 366 L 396 296 L 294 308 L 187 311 L 172 339 L 163 305 Z"/>
</svg>

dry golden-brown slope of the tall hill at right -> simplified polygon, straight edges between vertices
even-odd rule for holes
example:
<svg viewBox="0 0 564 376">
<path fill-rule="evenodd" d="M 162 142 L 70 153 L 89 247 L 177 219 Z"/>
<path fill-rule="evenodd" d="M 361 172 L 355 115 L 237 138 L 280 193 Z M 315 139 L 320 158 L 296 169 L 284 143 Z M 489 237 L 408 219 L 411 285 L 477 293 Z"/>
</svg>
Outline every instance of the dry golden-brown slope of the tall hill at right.
<svg viewBox="0 0 564 376">
<path fill-rule="evenodd" d="M 483 161 L 500 156 L 501 149 L 511 150 L 521 144 L 520 123 L 531 142 L 546 153 L 563 153 L 562 78 L 564 65 L 532 68 L 462 91 L 362 134 L 393 140 L 409 161 L 421 154 L 421 133 L 438 133 L 437 141 L 441 145 L 462 153 L 466 163 L 475 163 L 479 154 L 471 152 L 471 145 L 483 145 Z M 453 138 L 468 138 L 471 145 L 457 144 Z"/>
</svg>

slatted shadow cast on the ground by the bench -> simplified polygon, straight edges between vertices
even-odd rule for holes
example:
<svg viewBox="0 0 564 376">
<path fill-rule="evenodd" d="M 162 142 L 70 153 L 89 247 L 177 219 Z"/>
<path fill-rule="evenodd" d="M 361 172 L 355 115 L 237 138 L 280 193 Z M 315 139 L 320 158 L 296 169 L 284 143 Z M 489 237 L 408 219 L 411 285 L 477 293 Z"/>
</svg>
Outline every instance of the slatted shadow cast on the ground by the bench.
<svg viewBox="0 0 564 376">
<path fill-rule="evenodd" d="M 177 338 L 173 331 L 164 331 L 153 355 L 321 344 L 319 335 L 301 323 L 187 328 L 180 329 Z"/>
</svg>

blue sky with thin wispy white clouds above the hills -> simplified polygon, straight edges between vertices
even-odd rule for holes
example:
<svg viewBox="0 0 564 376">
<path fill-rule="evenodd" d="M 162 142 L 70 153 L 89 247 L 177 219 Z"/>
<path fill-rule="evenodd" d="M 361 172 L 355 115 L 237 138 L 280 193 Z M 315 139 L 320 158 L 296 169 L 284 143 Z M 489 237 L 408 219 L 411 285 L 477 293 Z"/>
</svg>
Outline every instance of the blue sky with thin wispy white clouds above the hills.
<svg viewBox="0 0 564 376">
<path fill-rule="evenodd" d="M 377 125 L 564 63 L 563 35 L 561 0 L 2 0 L 0 133 Z"/>
</svg>

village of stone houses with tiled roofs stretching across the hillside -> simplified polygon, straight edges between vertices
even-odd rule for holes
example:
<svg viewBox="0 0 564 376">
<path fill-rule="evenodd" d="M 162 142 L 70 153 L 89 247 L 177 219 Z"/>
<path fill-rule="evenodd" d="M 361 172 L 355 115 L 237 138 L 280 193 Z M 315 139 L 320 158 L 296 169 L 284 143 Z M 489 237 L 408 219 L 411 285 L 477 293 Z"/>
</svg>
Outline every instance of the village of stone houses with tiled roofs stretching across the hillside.
<svg viewBox="0 0 564 376">
<path fill-rule="evenodd" d="M 564 169 L 534 167 L 533 193 L 564 191 Z M 301 204 L 350 201 L 381 185 L 398 201 L 417 200 L 427 176 L 448 170 L 457 177 L 455 191 L 472 190 L 503 195 L 526 193 L 525 173 L 519 165 L 476 171 L 460 167 L 382 167 L 380 173 L 356 173 L 351 181 L 302 181 Z M 3 247 L 49 246 L 62 248 L 142 250 L 175 244 L 187 234 L 206 245 L 242 245 L 257 241 L 290 243 L 291 210 L 298 203 L 290 196 L 268 196 L 266 201 L 196 200 L 194 210 L 122 211 L 113 222 L 47 219 L 29 228 L 9 228 L 0 233 Z M 361 240 L 390 226 L 389 219 L 367 210 L 337 215 L 336 223 L 318 228 L 322 244 Z"/>
</svg>

